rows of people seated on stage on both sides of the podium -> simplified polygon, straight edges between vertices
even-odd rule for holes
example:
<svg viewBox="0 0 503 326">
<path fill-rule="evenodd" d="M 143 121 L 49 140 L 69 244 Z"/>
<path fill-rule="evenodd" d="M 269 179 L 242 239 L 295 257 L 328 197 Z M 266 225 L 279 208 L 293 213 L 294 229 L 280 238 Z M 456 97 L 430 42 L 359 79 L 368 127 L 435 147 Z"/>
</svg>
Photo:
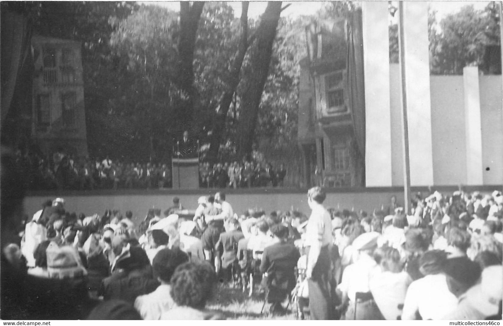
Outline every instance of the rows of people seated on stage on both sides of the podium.
<svg viewBox="0 0 503 326">
<path fill-rule="evenodd" d="M 32 190 L 163 189 L 172 187 L 171 164 L 128 162 L 121 159 L 83 158 L 58 150 L 48 157 L 34 152 L 16 153 L 17 165 L 28 171 Z M 284 165 L 243 160 L 210 165 L 200 162 L 199 183 L 203 188 L 282 187 Z"/>
</svg>

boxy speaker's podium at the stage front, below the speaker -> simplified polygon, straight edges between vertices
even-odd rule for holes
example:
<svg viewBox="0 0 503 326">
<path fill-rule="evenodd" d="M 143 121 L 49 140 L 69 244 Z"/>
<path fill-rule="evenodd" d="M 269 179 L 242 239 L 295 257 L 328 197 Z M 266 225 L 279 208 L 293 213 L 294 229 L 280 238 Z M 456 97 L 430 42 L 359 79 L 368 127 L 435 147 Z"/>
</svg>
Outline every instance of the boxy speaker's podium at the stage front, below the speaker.
<svg viewBox="0 0 503 326">
<path fill-rule="evenodd" d="M 173 189 L 199 189 L 199 158 L 172 158 Z"/>
</svg>

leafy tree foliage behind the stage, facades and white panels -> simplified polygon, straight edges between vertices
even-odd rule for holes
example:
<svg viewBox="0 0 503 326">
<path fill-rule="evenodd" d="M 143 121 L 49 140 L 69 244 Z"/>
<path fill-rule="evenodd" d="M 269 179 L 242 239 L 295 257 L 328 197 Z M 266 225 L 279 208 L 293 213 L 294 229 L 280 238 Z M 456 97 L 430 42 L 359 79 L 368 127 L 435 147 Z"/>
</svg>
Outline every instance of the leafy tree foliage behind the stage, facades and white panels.
<svg viewBox="0 0 503 326">
<path fill-rule="evenodd" d="M 183 3 L 180 13 L 128 2 L 44 2 L 36 29 L 82 42 L 92 155 L 165 159 L 187 125 L 204 148 L 212 144 L 212 159 L 252 149 L 272 155 L 296 146 L 305 26 L 346 17 L 358 4 L 329 2 L 316 17 L 295 19 L 279 18 L 281 5 L 270 5 L 272 21 L 272 9 L 243 21 L 221 2 Z M 499 44 L 499 20 L 491 4 L 440 22 L 430 12 L 432 73 L 480 64 L 484 46 Z M 396 25 L 389 35 L 390 62 L 398 62 Z"/>
</svg>

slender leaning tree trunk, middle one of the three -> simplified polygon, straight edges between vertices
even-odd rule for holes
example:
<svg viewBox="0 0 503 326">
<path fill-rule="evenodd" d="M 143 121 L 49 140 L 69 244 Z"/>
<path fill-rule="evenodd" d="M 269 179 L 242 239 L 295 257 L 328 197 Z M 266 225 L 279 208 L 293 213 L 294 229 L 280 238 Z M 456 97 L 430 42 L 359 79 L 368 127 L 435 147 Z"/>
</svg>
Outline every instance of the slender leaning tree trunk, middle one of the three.
<svg viewBox="0 0 503 326">
<path fill-rule="evenodd" d="M 211 162 L 217 160 L 218 149 L 220 148 L 220 143 L 223 138 L 223 131 L 225 129 L 225 122 L 227 120 L 227 113 L 229 112 L 230 104 L 232 103 L 232 98 L 236 92 L 237 86 L 239 85 L 239 73 L 241 72 L 241 66 L 243 64 L 244 55 L 248 49 L 248 1 L 242 2 L 241 9 L 241 40 L 239 42 L 239 48 L 237 50 L 236 58 L 234 59 L 230 83 L 228 85 L 227 91 L 220 98 L 219 110 L 215 116 L 215 121 L 213 125 L 213 134 L 210 140 L 210 149 L 208 151 L 208 159 Z"/>
</svg>

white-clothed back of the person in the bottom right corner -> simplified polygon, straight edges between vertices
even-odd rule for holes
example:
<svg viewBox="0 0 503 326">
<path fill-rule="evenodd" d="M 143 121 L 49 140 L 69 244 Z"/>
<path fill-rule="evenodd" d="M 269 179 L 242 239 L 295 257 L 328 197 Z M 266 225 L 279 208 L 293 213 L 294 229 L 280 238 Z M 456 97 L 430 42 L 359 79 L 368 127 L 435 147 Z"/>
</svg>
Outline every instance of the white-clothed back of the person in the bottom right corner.
<svg viewBox="0 0 503 326">
<path fill-rule="evenodd" d="M 445 315 L 446 320 L 501 319 L 503 293 L 503 270 L 501 265 L 489 266 L 482 271 L 482 280 L 459 298 L 453 311 Z"/>
</svg>

